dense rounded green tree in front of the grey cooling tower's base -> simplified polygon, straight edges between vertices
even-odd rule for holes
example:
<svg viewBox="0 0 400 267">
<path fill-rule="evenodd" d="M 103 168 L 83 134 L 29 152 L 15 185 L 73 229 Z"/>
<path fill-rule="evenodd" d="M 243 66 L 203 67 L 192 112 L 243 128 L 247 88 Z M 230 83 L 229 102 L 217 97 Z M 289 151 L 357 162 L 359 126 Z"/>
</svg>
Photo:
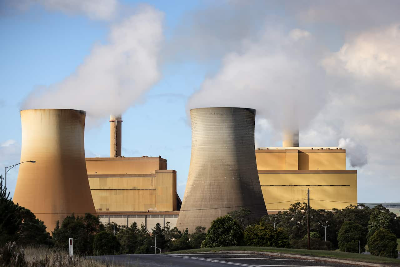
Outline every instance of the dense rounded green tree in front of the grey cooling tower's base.
<svg viewBox="0 0 400 267">
<path fill-rule="evenodd" d="M 240 225 L 232 217 L 225 215 L 211 222 L 201 247 L 239 246 L 243 243 Z"/>
</svg>

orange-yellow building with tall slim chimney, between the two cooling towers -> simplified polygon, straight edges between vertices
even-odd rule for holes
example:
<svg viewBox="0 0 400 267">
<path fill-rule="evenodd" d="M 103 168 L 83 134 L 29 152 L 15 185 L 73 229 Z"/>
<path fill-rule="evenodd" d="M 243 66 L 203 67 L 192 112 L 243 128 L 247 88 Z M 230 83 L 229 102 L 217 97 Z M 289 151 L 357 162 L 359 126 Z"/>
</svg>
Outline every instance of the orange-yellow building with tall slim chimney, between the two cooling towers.
<svg viewBox="0 0 400 267">
<path fill-rule="evenodd" d="M 110 118 L 110 157 L 86 158 L 94 206 L 100 220 L 148 229 L 156 223 L 174 227 L 182 201 L 176 171 L 162 157 L 123 157 L 121 116 Z"/>
</svg>

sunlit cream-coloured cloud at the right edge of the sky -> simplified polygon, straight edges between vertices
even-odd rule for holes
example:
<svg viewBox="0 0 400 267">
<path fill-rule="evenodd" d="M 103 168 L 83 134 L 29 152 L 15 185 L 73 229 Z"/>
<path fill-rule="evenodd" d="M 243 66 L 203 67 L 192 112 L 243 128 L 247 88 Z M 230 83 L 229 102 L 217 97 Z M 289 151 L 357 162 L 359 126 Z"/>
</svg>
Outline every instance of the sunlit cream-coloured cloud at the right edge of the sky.
<svg viewBox="0 0 400 267">
<path fill-rule="evenodd" d="M 323 65 L 330 74 L 400 86 L 400 24 L 357 34 Z"/>
</svg>

